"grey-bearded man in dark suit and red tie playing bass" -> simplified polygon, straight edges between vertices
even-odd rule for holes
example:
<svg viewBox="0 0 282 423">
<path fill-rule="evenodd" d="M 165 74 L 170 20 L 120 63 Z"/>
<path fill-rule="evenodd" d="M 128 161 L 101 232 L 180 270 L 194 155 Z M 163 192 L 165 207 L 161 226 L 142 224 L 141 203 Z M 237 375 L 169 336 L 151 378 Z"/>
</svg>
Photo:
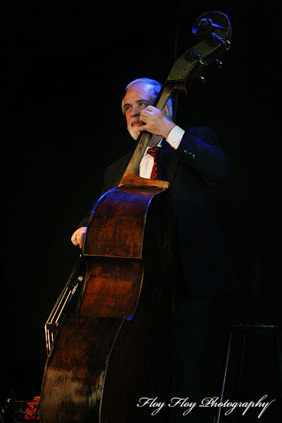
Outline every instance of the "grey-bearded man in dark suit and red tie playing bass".
<svg viewBox="0 0 282 423">
<path fill-rule="evenodd" d="M 159 179 L 171 183 L 184 281 L 173 314 L 171 398 L 189 397 L 189 402 L 199 405 L 201 364 L 212 298 L 235 290 L 233 272 L 214 210 L 214 187 L 226 177 L 228 159 L 211 128 L 183 129 L 172 121 L 171 100 L 162 111 L 152 106 L 160 88 L 159 82 L 148 78 L 130 82 L 125 89 L 122 109 L 134 140 L 142 131 L 153 134 L 149 147 L 161 147 Z M 116 186 L 132 154 L 106 169 L 104 192 Z M 153 168 L 154 158 L 146 152 L 140 163 L 140 176 L 150 178 Z M 80 248 L 87 221 L 88 217 L 71 238 Z M 200 422 L 199 407 L 183 417 L 184 410 L 179 405 L 170 407 L 170 421 Z"/>
</svg>

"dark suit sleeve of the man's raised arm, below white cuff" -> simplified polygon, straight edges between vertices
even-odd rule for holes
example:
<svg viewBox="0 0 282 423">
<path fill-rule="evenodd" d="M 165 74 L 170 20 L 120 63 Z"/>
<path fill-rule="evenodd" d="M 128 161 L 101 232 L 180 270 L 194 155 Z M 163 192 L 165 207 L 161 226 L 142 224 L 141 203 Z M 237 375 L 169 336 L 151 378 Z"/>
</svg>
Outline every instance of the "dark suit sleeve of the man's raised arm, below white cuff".
<svg viewBox="0 0 282 423">
<path fill-rule="evenodd" d="M 209 126 L 185 130 L 176 152 L 211 185 L 217 185 L 228 174 L 228 157 L 222 151 L 214 131 Z"/>
</svg>

